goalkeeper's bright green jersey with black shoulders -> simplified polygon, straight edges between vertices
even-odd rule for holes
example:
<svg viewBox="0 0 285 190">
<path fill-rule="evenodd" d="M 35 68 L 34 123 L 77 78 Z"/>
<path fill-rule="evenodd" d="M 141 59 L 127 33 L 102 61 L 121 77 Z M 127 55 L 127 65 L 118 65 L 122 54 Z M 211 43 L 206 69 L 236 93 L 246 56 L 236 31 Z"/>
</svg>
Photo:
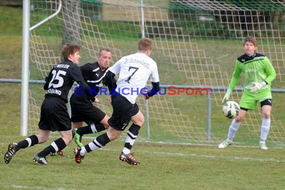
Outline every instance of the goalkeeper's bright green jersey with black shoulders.
<svg viewBox="0 0 285 190">
<path fill-rule="evenodd" d="M 237 84 L 241 73 L 244 74 L 243 88 L 250 89 L 254 84 L 252 82 L 265 81 L 265 85 L 261 89 L 271 86 L 271 81 L 276 77 L 276 72 L 270 60 L 263 54 L 254 53 L 251 56 L 243 54 L 235 61 L 234 71 L 228 85 L 232 91 Z"/>
</svg>

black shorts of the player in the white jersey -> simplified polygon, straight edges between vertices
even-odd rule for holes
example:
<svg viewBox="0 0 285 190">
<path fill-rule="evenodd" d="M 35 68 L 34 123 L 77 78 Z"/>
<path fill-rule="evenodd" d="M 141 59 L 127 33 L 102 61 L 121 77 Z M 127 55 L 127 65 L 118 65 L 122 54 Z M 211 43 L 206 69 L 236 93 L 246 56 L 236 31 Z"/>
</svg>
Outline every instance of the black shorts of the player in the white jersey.
<svg viewBox="0 0 285 190">
<path fill-rule="evenodd" d="M 108 119 L 108 124 L 117 130 L 124 130 L 131 116 L 138 112 L 137 104 L 130 103 L 120 94 L 112 95 L 112 107 L 113 113 Z"/>
</svg>

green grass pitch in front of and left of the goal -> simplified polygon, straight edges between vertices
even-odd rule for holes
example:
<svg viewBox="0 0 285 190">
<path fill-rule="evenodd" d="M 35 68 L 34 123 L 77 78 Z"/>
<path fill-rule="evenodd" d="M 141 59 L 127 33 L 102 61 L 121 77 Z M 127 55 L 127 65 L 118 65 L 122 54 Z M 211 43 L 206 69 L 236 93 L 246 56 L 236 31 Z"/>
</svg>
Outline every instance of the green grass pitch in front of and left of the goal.
<svg viewBox="0 0 285 190">
<path fill-rule="evenodd" d="M 0 11 L 8 9 L 0 7 Z M 18 12 L 11 8 L 11 12 Z M 6 15 L 6 14 L 4 14 Z M 20 26 L 7 19 L 6 26 Z M 11 22 L 11 24 L 9 24 Z M 17 23 L 18 22 L 18 23 Z M 3 22 L 1 22 L 3 23 Z M 21 36 L 15 27 L 3 27 L 0 36 L 0 76 L 20 78 Z M 9 164 L 3 160 L 7 145 L 20 136 L 20 84 L 0 83 L 0 189 L 284 189 L 284 149 L 257 146 L 167 144 L 136 141 L 132 150 L 141 162 L 130 166 L 118 159 L 124 137 L 74 161 L 72 141 L 68 156 L 48 156 L 48 165 L 33 163 L 32 156 L 55 138 L 18 151 Z M 157 131 L 159 132 L 159 131 Z M 92 138 L 83 138 L 87 143 Z"/>
</svg>

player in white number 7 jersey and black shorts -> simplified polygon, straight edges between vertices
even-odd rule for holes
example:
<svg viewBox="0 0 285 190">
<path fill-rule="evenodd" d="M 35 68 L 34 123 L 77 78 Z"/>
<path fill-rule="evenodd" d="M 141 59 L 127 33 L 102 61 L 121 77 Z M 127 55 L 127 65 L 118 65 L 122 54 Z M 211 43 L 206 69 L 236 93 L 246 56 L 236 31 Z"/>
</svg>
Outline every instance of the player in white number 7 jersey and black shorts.
<svg viewBox="0 0 285 190">
<path fill-rule="evenodd" d="M 75 161 L 81 163 L 86 152 L 101 148 L 111 140 L 120 136 L 126 128 L 131 117 L 141 117 L 135 99 L 139 93 L 144 95 L 145 99 L 154 95 L 159 90 L 159 77 L 156 62 L 149 57 L 152 50 L 152 40 L 149 38 L 141 38 L 138 41 L 137 52 L 119 59 L 111 66 L 106 77 L 112 77 L 119 74 L 116 86 L 111 92 L 111 104 L 113 112 L 108 119 L 109 128 L 106 133 L 97 136 L 90 143 L 80 147 L 75 147 Z M 146 81 L 150 76 L 152 89 L 144 92 Z M 132 116 L 133 115 L 133 116 Z M 132 123 L 127 131 L 124 147 L 119 159 L 126 161 L 131 165 L 137 165 L 140 162 L 133 157 L 130 149 L 138 135 L 140 126 Z"/>
</svg>

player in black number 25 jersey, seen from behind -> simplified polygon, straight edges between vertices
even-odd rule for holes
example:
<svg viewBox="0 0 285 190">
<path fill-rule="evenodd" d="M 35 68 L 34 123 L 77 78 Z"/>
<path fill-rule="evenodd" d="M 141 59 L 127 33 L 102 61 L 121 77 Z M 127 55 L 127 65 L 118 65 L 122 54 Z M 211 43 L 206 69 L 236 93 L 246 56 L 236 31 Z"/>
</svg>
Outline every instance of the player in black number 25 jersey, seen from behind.
<svg viewBox="0 0 285 190">
<path fill-rule="evenodd" d="M 43 143 L 48 139 L 50 131 L 58 131 L 60 138 L 54 140 L 49 146 L 33 156 L 33 161 L 47 164 L 46 156 L 63 149 L 71 140 L 71 121 L 67 112 L 67 94 L 73 82 L 76 81 L 84 87 L 85 93 L 90 101 L 95 98 L 89 93 L 89 87 L 84 81 L 79 67 L 80 47 L 67 43 L 62 49 L 63 62 L 56 64 L 45 77 L 43 88 L 46 91 L 45 99 L 41 104 L 40 120 L 38 123 L 39 133 L 30 135 L 18 143 L 11 142 L 4 155 L 5 163 L 9 163 L 12 156 L 21 148 Z M 90 94 L 90 95 L 89 95 Z"/>
</svg>

